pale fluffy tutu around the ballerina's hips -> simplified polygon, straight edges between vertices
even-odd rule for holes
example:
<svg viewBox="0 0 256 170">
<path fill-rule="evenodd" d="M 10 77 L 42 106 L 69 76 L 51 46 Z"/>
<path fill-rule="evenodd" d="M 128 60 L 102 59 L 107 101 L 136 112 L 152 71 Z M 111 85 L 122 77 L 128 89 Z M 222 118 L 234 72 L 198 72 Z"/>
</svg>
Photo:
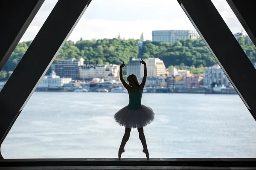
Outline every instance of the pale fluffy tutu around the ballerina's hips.
<svg viewBox="0 0 256 170">
<path fill-rule="evenodd" d="M 116 122 L 128 128 L 140 128 L 150 124 L 154 120 L 153 110 L 145 105 L 140 109 L 131 110 L 125 106 L 114 115 Z"/>
</svg>

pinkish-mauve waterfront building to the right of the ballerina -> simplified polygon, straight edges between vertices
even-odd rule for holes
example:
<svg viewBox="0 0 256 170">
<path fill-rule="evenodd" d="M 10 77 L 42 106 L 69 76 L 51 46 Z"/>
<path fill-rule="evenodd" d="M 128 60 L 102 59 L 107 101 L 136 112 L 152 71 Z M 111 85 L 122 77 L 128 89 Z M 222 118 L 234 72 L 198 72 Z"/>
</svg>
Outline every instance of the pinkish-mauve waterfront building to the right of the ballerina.
<svg viewBox="0 0 256 170">
<path fill-rule="evenodd" d="M 204 77 L 195 75 L 190 77 L 184 77 L 185 88 L 199 88 L 200 85 L 204 85 Z"/>
</svg>

